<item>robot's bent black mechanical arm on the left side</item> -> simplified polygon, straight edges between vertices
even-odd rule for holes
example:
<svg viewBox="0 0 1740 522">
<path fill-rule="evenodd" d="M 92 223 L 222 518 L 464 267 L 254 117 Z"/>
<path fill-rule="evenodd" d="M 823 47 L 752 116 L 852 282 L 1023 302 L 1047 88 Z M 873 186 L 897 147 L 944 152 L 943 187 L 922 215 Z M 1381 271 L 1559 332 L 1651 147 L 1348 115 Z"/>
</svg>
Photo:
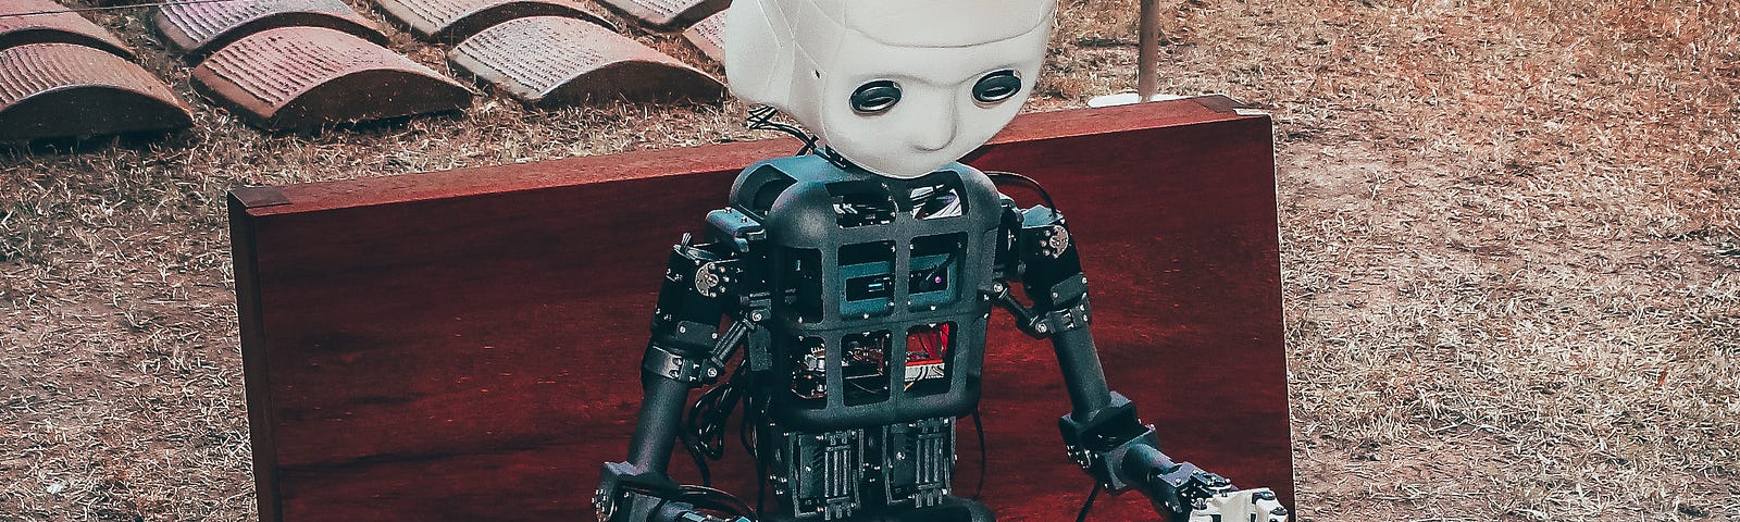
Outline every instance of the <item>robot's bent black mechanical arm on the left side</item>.
<svg viewBox="0 0 1740 522">
<path fill-rule="evenodd" d="M 628 461 L 604 465 L 593 498 L 600 522 L 746 520 L 701 512 L 719 501 L 708 498 L 710 489 L 677 485 L 668 475 L 689 392 L 719 381 L 736 348 L 767 320 L 760 278 L 745 268 L 748 242 L 731 233 L 701 245 L 684 237 L 672 251 L 640 362 L 644 398 Z M 731 318 L 731 327 L 720 332 L 722 317 Z"/>
</svg>

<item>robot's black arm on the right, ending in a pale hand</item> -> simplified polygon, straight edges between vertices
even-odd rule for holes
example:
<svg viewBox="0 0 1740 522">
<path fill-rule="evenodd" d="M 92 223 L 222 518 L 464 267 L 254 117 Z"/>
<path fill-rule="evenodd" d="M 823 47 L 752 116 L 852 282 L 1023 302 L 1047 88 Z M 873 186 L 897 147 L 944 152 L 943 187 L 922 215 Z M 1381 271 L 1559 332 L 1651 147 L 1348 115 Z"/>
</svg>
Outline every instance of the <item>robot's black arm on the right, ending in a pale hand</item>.
<svg viewBox="0 0 1740 522">
<path fill-rule="evenodd" d="M 1225 477 L 1161 452 L 1154 426 L 1141 423 L 1129 398 L 1110 390 L 1089 332 L 1088 277 L 1063 214 L 1006 202 L 1004 228 L 999 264 L 1009 280 L 1023 284 L 1034 306 L 1023 306 L 1002 284 L 994 287 L 995 299 L 1014 313 L 1021 331 L 1051 339 L 1070 395 L 1070 414 L 1058 421 L 1070 458 L 1112 492 L 1140 489 L 1174 522 L 1284 522 L 1286 508 L 1267 489 L 1239 491 Z M 1223 519 L 1232 515 L 1237 519 Z"/>
</svg>

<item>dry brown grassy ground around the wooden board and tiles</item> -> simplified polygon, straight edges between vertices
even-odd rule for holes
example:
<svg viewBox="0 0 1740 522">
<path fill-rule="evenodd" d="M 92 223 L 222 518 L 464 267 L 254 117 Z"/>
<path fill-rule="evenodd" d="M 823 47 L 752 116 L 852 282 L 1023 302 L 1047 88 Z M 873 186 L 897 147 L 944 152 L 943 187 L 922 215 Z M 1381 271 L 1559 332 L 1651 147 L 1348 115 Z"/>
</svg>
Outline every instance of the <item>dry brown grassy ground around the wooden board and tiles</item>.
<svg viewBox="0 0 1740 522">
<path fill-rule="evenodd" d="M 1740 520 L 1740 3 L 1162 3 L 1164 89 L 1277 120 L 1302 519 Z M 1128 89 L 1133 12 L 1068 2 L 1035 106 Z M 193 97 L 146 16 L 96 17 Z M 0 150 L 0 520 L 254 515 L 228 188 L 741 117 L 489 97 L 263 136 L 198 104 L 167 141 Z"/>
</svg>

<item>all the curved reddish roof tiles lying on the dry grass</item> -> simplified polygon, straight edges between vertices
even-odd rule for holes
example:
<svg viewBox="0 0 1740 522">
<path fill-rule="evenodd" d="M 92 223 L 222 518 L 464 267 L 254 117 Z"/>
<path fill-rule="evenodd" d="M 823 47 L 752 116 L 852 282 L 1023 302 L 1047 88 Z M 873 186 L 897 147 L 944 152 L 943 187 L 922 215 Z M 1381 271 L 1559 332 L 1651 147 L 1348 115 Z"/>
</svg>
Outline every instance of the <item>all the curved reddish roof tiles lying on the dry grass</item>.
<svg viewBox="0 0 1740 522">
<path fill-rule="evenodd" d="M 612 19 L 684 30 L 720 59 L 729 0 L 374 0 L 482 82 L 532 104 L 710 101 L 724 84 L 623 37 Z M 459 111 L 477 90 L 388 49 L 345 0 L 171 0 L 151 24 L 191 87 L 256 127 Z M 0 139 L 191 125 L 186 104 L 110 31 L 54 0 L 0 0 Z M 73 115 L 73 117 L 68 117 Z"/>
</svg>

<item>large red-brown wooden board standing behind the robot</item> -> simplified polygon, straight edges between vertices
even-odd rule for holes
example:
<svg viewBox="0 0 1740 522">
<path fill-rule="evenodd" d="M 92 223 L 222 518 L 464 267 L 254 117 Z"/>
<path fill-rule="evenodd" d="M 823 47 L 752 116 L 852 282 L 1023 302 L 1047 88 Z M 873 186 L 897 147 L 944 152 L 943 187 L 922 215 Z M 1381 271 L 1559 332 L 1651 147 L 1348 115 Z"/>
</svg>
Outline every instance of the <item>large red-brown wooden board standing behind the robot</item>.
<svg viewBox="0 0 1740 522">
<path fill-rule="evenodd" d="M 1270 120 L 1230 106 L 1025 115 L 969 162 L 1037 177 L 1068 216 L 1108 378 L 1164 449 L 1291 505 Z M 237 190 L 263 519 L 588 520 L 599 466 L 625 458 L 670 245 L 738 169 L 793 150 Z M 1051 348 L 992 325 L 981 499 L 1000 520 L 1070 520 L 1091 484 L 1056 432 L 1068 398 Z M 969 492 L 971 423 L 960 440 Z M 748 470 L 733 451 L 717 484 L 753 498 Z M 673 473 L 694 478 L 686 456 Z M 1124 494 L 1093 520 L 1157 517 Z"/>
</svg>

